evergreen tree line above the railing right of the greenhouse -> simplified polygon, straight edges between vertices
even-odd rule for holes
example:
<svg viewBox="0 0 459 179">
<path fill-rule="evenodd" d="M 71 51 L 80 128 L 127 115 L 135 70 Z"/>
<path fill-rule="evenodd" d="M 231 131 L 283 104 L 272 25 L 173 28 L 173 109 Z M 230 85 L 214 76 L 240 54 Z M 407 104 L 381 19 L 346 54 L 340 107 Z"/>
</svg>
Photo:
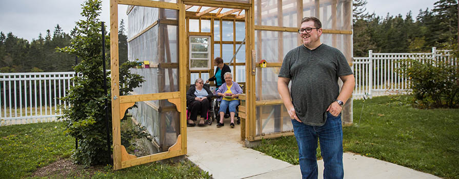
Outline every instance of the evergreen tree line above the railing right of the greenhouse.
<svg viewBox="0 0 459 179">
<path fill-rule="evenodd" d="M 420 10 L 414 17 L 411 11 L 403 18 L 386 17 L 366 12 L 366 0 L 354 0 L 353 52 L 354 57 L 368 56 L 368 51 L 384 53 L 430 52 L 432 47 L 447 48 L 457 43 L 458 24 L 456 0 L 440 0 L 434 8 Z"/>
</svg>

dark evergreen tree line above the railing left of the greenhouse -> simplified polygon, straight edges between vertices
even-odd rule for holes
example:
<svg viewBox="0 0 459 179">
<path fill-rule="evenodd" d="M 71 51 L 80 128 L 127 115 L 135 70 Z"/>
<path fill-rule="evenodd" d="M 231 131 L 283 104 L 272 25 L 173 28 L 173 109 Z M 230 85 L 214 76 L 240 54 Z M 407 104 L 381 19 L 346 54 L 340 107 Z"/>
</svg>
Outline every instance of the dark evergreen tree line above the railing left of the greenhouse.
<svg viewBox="0 0 459 179">
<path fill-rule="evenodd" d="M 12 32 L 0 32 L 0 73 L 74 71 L 75 56 L 57 52 L 57 48 L 70 46 L 71 39 L 75 38 L 75 28 L 70 33 L 65 33 L 56 25 L 52 34 L 47 30 L 45 37 L 40 33 L 31 42 L 15 36 Z M 122 19 L 118 30 L 119 64 L 128 58 L 125 31 Z"/>
</svg>

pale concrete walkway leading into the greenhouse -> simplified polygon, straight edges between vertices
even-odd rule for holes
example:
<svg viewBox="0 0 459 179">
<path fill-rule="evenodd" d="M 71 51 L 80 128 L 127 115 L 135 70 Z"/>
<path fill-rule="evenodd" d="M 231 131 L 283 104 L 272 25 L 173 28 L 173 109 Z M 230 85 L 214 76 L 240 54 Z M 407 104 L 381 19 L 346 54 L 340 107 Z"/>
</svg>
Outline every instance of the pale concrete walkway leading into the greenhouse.
<svg viewBox="0 0 459 179">
<path fill-rule="evenodd" d="M 213 178 L 301 178 L 300 166 L 273 159 L 271 156 L 243 146 L 240 125 L 217 128 L 215 122 L 206 127 L 188 127 L 188 159 Z M 318 161 L 319 178 L 324 163 Z M 344 178 L 440 178 L 400 165 L 346 152 L 343 154 Z"/>
</svg>

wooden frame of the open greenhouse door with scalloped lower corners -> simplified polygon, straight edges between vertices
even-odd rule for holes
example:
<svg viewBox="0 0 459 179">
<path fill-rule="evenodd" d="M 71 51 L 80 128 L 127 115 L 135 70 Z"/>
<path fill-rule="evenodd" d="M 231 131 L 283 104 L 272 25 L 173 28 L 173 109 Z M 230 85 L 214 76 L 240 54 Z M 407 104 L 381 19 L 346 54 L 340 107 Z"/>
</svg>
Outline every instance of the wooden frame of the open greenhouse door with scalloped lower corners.
<svg viewBox="0 0 459 179">
<path fill-rule="evenodd" d="M 173 156 L 186 154 L 186 121 L 179 120 L 180 123 L 180 135 L 177 136 L 177 142 L 171 146 L 168 151 L 156 153 L 152 155 L 142 156 L 137 158 L 135 155 L 130 155 L 126 152 L 126 149 L 121 145 L 121 132 L 120 132 L 120 121 L 125 110 L 132 106 L 134 102 L 147 101 L 147 100 L 161 100 L 168 99 L 171 103 L 175 104 L 177 111 L 185 111 L 185 82 L 186 79 L 184 59 L 186 53 L 179 50 L 179 74 L 180 84 L 179 92 L 170 93 L 157 93 L 157 94 L 145 94 L 145 95 L 131 95 L 131 96 L 119 96 L 119 69 L 118 69 L 118 4 L 124 5 L 135 5 L 145 6 L 153 8 L 165 8 L 178 10 L 178 35 L 179 39 L 186 38 L 185 32 L 185 5 L 181 2 L 175 3 L 164 3 L 146 0 L 111 0 L 110 1 L 110 56 L 111 56 L 111 94 L 112 94 L 112 130 L 113 130 L 113 168 L 115 170 L 131 167 L 134 165 L 144 164 L 153 162 L 156 160 L 162 160 L 171 158 Z M 158 23 L 154 23 L 149 28 L 156 26 Z M 144 30 L 143 32 L 147 31 Z M 140 35 L 140 34 L 138 34 Z M 130 40 L 134 39 L 138 35 L 134 36 Z M 179 49 L 186 48 L 185 41 L 179 41 Z M 167 64 L 167 63 L 163 63 Z M 180 119 L 186 119 L 185 113 L 180 113 Z"/>
</svg>

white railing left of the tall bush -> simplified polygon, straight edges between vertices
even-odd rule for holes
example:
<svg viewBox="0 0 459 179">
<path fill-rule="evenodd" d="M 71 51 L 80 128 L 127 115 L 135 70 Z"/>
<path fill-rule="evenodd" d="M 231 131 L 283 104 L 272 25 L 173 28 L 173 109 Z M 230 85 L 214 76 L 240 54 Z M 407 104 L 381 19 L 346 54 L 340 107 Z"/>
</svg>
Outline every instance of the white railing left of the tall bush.
<svg viewBox="0 0 459 179">
<path fill-rule="evenodd" d="M 0 73 L 0 126 L 56 121 L 75 72 Z"/>
</svg>

